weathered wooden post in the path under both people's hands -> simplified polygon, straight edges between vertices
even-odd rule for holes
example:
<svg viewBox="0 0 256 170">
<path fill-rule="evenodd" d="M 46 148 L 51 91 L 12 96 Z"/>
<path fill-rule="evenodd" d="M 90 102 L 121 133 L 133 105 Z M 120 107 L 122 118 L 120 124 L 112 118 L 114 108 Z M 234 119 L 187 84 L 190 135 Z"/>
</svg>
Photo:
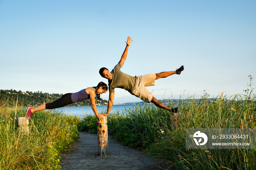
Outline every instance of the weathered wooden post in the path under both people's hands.
<svg viewBox="0 0 256 170">
<path fill-rule="evenodd" d="M 98 155 L 108 155 L 108 120 L 107 116 L 103 116 L 103 120 L 100 121 L 97 118 L 97 134 L 98 134 Z"/>
</svg>

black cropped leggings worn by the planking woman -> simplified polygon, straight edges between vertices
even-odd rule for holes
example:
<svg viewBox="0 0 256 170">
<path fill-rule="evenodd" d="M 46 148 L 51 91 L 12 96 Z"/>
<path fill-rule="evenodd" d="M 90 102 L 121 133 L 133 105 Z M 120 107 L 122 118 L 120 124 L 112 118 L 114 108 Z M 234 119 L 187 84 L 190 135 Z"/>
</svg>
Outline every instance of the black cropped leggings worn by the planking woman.
<svg viewBox="0 0 256 170">
<path fill-rule="evenodd" d="M 45 108 L 46 109 L 55 109 L 55 108 L 64 107 L 68 104 L 73 103 L 71 100 L 71 94 L 72 93 L 64 94 L 63 96 L 61 96 L 61 98 L 53 101 L 52 103 L 46 103 Z"/>
</svg>

